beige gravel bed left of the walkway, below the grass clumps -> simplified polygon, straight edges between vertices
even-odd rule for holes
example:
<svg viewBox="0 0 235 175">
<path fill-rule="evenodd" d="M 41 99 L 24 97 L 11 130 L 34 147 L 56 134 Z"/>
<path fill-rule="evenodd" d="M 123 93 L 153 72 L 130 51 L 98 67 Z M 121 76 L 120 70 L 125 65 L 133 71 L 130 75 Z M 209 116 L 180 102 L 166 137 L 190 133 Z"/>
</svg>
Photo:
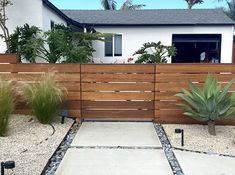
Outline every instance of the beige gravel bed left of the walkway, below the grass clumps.
<svg viewBox="0 0 235 175">
<path fill-rule="evenodd" d="M 42 125 L 32 116 L 13 115 L 10 119 L 8 137 L 0 137 L 0 161 L 14 160 L 16 168 L 6 170 L 7 175 L 40 175 L 47 161 L 59 146 L 73 120 L 65 124 Z"/>
</svg>

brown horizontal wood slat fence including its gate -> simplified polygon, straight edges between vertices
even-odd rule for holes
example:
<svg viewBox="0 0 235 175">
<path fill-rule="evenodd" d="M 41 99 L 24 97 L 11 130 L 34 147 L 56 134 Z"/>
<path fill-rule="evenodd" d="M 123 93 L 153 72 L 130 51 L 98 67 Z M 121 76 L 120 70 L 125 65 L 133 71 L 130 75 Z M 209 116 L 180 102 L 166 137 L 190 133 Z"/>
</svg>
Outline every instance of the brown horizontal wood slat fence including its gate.
<svg viewBox="0 0 235 175">
<path fill-rule="evenodd" d="M 183 115 L 175 96 L 188 81 L 202 87 L 208 73 L 224 87 L 235 78 L 233 64 L 5 64 L 0 55 L 0 77 L 17 83 L 37 83 L 42 74 L 56 72 L 68 89 L 64 108 L 78 119 L 154 120 L 159 123 L 198 123 Z M 4 62 L 4 63 L 3 63 Z M 2 64 L 3 63 L 3 64 Z M 231 92 L 235 91 L 235 85 Z M 19 98 L 16 113 L 30 110 Z M 219 124 L 235 125 L 235 120 Z"/>
</svg>

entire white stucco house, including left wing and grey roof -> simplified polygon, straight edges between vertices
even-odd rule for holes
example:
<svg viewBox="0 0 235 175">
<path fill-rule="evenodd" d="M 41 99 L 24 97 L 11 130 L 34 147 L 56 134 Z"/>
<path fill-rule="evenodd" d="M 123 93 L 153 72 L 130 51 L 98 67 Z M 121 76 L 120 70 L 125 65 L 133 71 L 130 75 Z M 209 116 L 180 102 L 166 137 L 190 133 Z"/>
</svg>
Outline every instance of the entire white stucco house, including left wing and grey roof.
<svg viewBox="0 0 235 175">
<path fill-rule="evenodd" d="M 97 62 L 127 62 L 144 43 L 158 41 L 177 48 L 169 63 L 202 62 L 202 55 L 204 60 L 216 56 L 219 63 L 232 62 L 235 23 L 220 9 L 59 10 L 48 0 L 13 3 L 7 11 L 10 32 L 28 23 L 43 31 L 65 24 L 80 31 L 112 33 L 109 42 L 93 42 Z M 0 41 L 0 52 L 4 50 Z"/>
</svg>

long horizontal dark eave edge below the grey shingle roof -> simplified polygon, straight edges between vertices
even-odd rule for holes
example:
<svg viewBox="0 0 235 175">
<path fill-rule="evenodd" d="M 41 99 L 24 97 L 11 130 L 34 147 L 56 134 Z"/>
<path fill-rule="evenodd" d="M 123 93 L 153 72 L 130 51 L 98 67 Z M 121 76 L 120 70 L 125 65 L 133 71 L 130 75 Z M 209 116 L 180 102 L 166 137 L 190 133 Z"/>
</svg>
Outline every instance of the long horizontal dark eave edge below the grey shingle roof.
<svg viewBox="0 0 235 175">
<path fill-rule="evenodd" d="M 93 26 L 93 27 L 131 27 L 131 26 L 234 26 L 235 23 L 214 23 L 214 24 L 208 24 L 208 23 L 188 23 L 188 24 L 91 24 L 91 23 L 84 23 L 85 25 Z"/>
</svg>

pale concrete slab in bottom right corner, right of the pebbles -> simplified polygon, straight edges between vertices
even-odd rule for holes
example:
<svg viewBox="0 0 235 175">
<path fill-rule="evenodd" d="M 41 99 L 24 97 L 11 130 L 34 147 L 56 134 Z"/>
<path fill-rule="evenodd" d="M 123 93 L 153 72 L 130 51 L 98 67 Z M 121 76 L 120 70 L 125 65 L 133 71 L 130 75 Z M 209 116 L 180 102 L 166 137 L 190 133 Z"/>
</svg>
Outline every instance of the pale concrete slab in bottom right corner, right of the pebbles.
<svg viewBox="0 0 235 175">
<path fill-rule="evenodd" d="M 235 158 L 174 151 L 185 175 L 232 175 Z"/>
</svg>

